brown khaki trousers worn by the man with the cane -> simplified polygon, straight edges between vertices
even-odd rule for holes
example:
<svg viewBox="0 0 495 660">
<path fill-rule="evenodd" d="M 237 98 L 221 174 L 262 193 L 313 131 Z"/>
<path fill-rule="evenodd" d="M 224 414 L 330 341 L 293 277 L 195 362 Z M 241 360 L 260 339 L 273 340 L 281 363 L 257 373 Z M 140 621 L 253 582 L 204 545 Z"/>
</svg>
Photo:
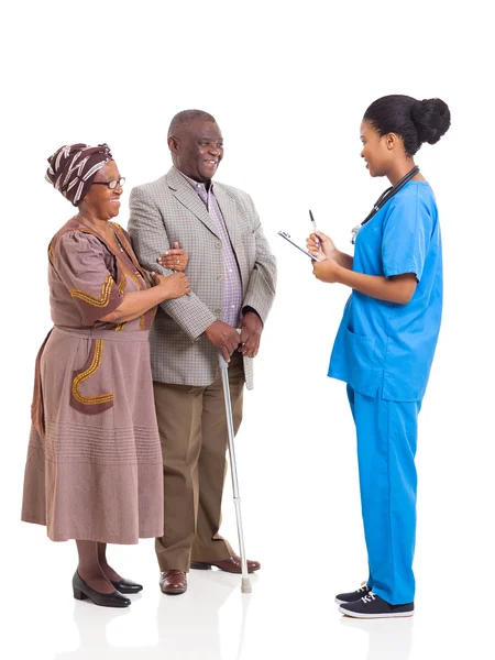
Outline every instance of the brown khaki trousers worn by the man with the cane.
<svg viewBox="0 0 495 660">
<path fill-rule="evenodd" d="M 234 431 L 242 420 L 241 353 L 229 364 Z M 218 534 L 227 470 L 228 429 L 221 373 L 207 387 L 153 383 L 163 452 L 164 535 L 155 550 L 162 571 L 233 554 Z"/>
</svg>

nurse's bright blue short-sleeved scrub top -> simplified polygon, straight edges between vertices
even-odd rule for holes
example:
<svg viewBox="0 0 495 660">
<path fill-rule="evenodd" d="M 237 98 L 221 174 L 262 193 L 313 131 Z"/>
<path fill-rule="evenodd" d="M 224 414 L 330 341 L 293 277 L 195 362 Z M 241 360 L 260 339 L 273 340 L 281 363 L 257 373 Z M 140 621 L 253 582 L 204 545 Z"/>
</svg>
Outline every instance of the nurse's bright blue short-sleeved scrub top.
<svg viewBox="0 0 495 660">
<path fill-rule="evenodd" d="M 407 305 L 352 292 L 328 375 L 371 397 L 422 399 L 442 312 L 440 226 L 427 183 L 408 182 L 364 224 L 353 271 L 385 277 L 415 273 L 418 284 Z"/>
</svg>

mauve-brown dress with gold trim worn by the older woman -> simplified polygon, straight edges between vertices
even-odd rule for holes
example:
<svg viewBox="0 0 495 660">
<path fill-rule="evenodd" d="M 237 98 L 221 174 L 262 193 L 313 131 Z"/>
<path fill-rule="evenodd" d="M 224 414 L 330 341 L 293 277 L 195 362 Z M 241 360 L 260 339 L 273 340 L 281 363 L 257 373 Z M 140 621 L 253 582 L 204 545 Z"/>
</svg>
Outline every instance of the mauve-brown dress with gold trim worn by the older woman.
<svg viewBox="0 0 495 660">
<path fill-rule="evenodd" d="M 129 235 L 120 251 L 77 218 L 48 248 L 54 328 L 36 360 L 22 519 L 54 541 L 136 543 L 163 534 L 162 452 L 147 334 L 155 309 L 98 318 L 151 285 Z"/>
</svg>

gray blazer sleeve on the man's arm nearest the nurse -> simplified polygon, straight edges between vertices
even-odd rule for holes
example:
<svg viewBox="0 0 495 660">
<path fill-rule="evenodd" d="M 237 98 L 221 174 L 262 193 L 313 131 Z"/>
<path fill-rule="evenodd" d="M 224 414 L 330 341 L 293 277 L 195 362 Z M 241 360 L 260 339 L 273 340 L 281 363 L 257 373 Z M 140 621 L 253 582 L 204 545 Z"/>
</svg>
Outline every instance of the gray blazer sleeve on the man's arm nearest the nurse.
<svg viewBox="0 0 495 660">
<path fill-rule="evenodd" d="M 249 195 L 246 195 L 246 198 L 250 216 L 253 218 L 256 256 L 242 307 L 252 307 L 264 324 L 275 298 L 277 283 L 276 258 L 275 255 L 272 254 L 268 241 L 263 233 L 260 216 L 257 215 L 253 200 Z"/>
</svg>

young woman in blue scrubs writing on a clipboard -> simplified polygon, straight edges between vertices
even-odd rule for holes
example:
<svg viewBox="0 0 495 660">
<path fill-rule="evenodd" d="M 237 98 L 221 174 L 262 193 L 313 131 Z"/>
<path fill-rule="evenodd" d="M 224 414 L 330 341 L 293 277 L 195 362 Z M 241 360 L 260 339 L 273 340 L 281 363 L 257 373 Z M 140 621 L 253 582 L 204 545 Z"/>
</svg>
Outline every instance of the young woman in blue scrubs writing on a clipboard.
<svg viewBox="0 0 495 660">
<path fill-rule="evenodd" d="M 348 616 L 414 613 L 417 422 L 442 311 L 437 204 L 414 155 L 449 127 L 440 99 L 395 95 L 372 103 L 361 124 L 361 156 L 392 189 L 354 229 L 354 256 L 321 232 L 307 241 L 322 260 L 314 262 L 315 276 L 352 289 L 329 369 L 348 384 L 370 568 L 360 590 L 336 598 Z"/>
</svg>

